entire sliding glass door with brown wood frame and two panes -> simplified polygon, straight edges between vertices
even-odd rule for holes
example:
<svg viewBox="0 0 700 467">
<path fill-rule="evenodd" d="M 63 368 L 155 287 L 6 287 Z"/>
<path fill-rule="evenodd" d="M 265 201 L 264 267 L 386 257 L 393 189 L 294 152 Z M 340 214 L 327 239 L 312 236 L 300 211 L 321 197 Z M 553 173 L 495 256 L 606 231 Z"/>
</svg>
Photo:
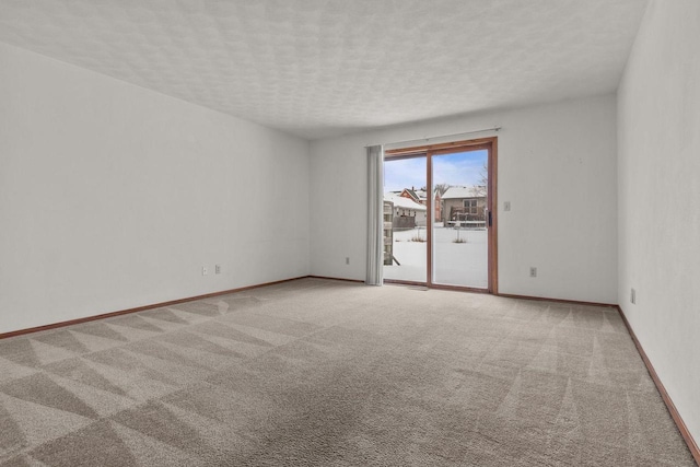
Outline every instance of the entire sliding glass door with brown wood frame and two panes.
<svg viewBox="0 0 700 467">
<path fill-rule="evenodd" d="M 495 144 L 386 151 L 386 281 L 497 291 Z"/>
</svg>

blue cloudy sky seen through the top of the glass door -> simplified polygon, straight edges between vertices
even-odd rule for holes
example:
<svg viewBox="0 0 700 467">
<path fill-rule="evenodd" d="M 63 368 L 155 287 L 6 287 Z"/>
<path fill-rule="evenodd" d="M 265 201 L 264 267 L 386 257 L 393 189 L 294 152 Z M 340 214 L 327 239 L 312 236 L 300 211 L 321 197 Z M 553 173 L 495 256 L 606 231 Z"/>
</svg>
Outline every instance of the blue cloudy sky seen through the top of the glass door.
<svg viewBox="0 0 700 467">
<path fill-rule="evenodd" d="M 458 152 L 433 156 L 433 185 L 448 184 L 470 186 L 479 184 L 481 167 L 486 162 L 486 150 Z M 425 182 L 425 157 L 387 160 L 384 163 L 384 191 L 416 189 L 428 185 Z"/>
</svg>

